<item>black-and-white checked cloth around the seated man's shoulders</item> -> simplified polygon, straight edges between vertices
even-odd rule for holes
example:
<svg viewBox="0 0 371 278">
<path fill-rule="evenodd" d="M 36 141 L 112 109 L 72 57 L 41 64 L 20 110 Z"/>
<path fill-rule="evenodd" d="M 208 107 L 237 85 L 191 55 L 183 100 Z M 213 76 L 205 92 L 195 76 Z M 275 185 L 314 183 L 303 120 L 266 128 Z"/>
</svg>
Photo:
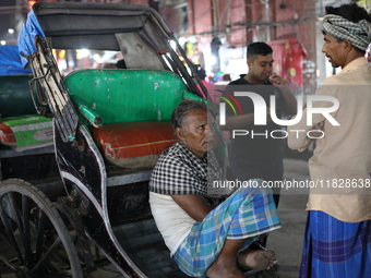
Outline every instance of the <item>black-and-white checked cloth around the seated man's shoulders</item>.
<svg viewBox="0 0 371 278">
<path fill-rule="evenodd" d="M 205 154 L 202 159 L 195 157 L 181 142 L 163 152 L 149 181 L 149 191 L 166 195 L 198 194 L 206 198 L 217 198 L 207 193 L 211 173 L 207 166 L 217 168 L 215 159 Z M 214 171 L 213 171 L 214 172 Z M 213 178 L 216 179 L 216 178 Z"/>
</svg>

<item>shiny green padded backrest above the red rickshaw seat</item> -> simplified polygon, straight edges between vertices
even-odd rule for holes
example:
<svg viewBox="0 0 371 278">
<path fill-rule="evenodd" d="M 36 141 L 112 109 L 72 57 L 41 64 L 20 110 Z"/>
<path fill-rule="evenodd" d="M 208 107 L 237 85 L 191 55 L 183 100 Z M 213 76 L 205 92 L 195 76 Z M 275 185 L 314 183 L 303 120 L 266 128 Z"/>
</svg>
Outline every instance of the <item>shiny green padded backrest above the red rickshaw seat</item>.
<svg viewBox="0 0 371 278">
<path fill-rule="evenodd" d="M 76 107 L 94 111 L 103 125 L 169 121 L 187 92 L 181 77 L 168 71 L 80 70 L 65 76 L 64 84 Z"/>
</svg>

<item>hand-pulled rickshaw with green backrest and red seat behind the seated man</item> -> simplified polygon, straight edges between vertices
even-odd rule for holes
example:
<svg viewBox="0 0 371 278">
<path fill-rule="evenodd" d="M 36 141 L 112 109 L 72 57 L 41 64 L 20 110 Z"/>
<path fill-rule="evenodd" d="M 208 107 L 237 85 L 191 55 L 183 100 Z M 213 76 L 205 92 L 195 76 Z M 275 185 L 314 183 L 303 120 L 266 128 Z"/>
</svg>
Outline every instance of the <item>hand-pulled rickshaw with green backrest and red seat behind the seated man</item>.
<svg viewBox="0 0 371 278">
<path fill-rule="evenodd" d="M 127 69 L 89 63 L 62 74 L 57 51 L 81 49 L 121 53 Z M 36 3 L 19 50 L 33 74 L 1 80 L 13 87 L 4 95 L 0 86 L 0 123 L 16 143 L 43 140 L 0 148 L 0 274 L 84 277 L 107 257 L 123 277 L 187 277 L 156 228 L 147 188 L 159 154 L 177 141 L 173 108 L 207 99 L 172 32 L 147 7 Z M 22 99 L 33 111 L 20 111 L 21 100 L 9 109 L 14 86 L 31 88 Z M 29 118 L 39 118 L 33 128 Z M 37 167 L 25 174 L 27 162 Z"/>
</svg>

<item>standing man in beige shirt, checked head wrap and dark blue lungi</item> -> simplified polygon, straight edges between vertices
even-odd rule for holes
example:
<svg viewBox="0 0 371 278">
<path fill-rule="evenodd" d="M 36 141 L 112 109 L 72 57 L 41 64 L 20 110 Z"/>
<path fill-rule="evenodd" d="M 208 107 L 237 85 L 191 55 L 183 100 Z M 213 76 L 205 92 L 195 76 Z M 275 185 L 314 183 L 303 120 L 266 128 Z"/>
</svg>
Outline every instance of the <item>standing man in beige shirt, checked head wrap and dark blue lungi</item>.
<svg viewBox="0 0 371 278">
<path fill-rule="evenodd" d="M 336 98 L 339 106 L 327 114 L 313 113 L 311 119 L 306 109 L 299 123 L 288 129 L 288 145 L 298 150 L 309 146 L 313 130 L 320 134 L 309 160 L 316 186 L 311 188 L 307 205 L 300 278 L 369 278 L 371 69 L 364 52 L 371 43 L 371 16 L 357 4 L 326 7 L 326 12 L 322 52 L 342 71 L 326 78 L 315 95 Z M 313 104 L 320 110 L 332 106 L 325 100 Z"/>
</svg>

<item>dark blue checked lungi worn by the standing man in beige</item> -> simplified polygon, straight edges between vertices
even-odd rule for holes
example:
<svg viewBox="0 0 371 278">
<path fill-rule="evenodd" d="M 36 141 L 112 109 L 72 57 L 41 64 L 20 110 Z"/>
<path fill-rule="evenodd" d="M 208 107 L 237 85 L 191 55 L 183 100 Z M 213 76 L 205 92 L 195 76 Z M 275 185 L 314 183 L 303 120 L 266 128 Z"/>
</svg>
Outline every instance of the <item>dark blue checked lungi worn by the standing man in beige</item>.
<svg viewBox="0 0 371 278">
<path fill-rule="evenodd" d="M 323 211 L 310 210 L 300 278 L 338 277 L 371 277 L 371 220 L 343 222 Z"/>
</svg>

